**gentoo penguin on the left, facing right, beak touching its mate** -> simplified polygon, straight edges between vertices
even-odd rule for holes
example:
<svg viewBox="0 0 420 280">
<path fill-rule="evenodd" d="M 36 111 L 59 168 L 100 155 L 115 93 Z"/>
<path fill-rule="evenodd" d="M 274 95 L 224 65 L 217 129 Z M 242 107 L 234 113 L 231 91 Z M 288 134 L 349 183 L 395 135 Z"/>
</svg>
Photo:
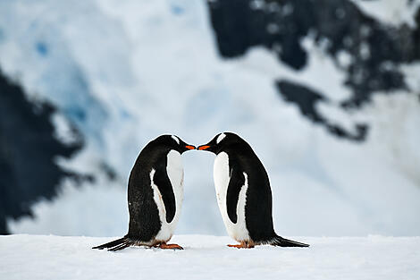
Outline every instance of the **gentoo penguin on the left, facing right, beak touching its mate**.
<svg viewBox="0 0 420 280">
<path fill-rule="evenodd" d="M 196 149 L 175 135 L 150 141 L 137 157 L 129 178 L 129 233 L 93 249 L 122 250 L 131 245 L 182 249 L 167 244 L 175 230 L 183 199 L 181 154 Z"/>
</svg>

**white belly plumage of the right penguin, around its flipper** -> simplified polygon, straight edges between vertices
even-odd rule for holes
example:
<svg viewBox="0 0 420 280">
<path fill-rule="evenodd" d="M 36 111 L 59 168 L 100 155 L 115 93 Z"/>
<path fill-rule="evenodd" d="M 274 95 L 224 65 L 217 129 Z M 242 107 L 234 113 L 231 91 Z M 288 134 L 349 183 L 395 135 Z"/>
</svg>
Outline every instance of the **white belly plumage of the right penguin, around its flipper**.
<svg viewBox="0 0 420 280">
<path fill-rule="evenodd" d="M 219 204 L 220 213 L 222 214 L 223 223 L 226 227 L 226 231 L 234 240 L 248 241 L 249 233 L 247 225 L 245 223 L 245 203 L 246 193 L 248 190 L 248 175 L 245 175 L 245 184 L 239 191 L 239 200 L 236 208 L 236 214 L 238 216 L 236 224 L 231 222 L 228 216 L 226 195 L 228 192 L 229 181 L 231 180 L 231 174 L 229 174 L 229 157 L 228 154 L 221 152 L 214 160 L 214 186 L 216 189 L 217 203 Z"/>
</svg>

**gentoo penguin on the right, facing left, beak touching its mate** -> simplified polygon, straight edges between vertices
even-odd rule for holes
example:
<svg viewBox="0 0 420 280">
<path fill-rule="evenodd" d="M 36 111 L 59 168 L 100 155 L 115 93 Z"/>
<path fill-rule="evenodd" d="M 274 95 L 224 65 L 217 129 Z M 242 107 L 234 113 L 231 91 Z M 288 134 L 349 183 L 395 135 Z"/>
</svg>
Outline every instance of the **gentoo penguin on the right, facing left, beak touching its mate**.
<svg viewBox="0 0 420 280">
<path fill-rule="evenodd" d="M 227 232 L 238 245 L 253 248 L 271 244 L 281 247 L 307 247 L 274 232 L 272 191 L 268 175 L 249 144 L 237 134 L 223 132 L 197 149 L 213 152 L 214 186 Z"/>
</svg>

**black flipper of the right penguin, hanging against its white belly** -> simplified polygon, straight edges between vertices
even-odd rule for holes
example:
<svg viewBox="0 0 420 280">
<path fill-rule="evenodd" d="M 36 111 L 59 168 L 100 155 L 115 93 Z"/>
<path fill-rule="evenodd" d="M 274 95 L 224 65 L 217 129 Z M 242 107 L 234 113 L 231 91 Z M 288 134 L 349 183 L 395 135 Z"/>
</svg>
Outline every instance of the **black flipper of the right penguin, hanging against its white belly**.
<svg viewBox="0 0 420 280">
<path fill-rule="evenodd" d="M 233 224 L 236 224 L 238 215 L 236 209 L 238 207 L 239 192 L 245 184 L 245 176 L 239 170 L 231 169 L 231 178 L 226 194 L 226 208 L 228 216 Z"/>
</svg>

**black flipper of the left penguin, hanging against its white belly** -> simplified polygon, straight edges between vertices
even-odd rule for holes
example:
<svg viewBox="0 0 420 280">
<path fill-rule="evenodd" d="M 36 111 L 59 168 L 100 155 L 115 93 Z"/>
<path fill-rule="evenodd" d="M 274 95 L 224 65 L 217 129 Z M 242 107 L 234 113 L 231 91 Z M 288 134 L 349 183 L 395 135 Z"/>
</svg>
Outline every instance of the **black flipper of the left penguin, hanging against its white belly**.
<svg viewBox="0 0 420 280">
<path fill-rule="evenodd" d="M 166 167 L 164 165 L 158 166 L 153 182 L 159 189 L 164 200 L 164 208 L 166 210 L 166 222 L 171 223 L 175 216 L 175 194 L 173 193 L 172 183 L 169 180 L 168 174 L 166 173 Z"/>
</svg>

